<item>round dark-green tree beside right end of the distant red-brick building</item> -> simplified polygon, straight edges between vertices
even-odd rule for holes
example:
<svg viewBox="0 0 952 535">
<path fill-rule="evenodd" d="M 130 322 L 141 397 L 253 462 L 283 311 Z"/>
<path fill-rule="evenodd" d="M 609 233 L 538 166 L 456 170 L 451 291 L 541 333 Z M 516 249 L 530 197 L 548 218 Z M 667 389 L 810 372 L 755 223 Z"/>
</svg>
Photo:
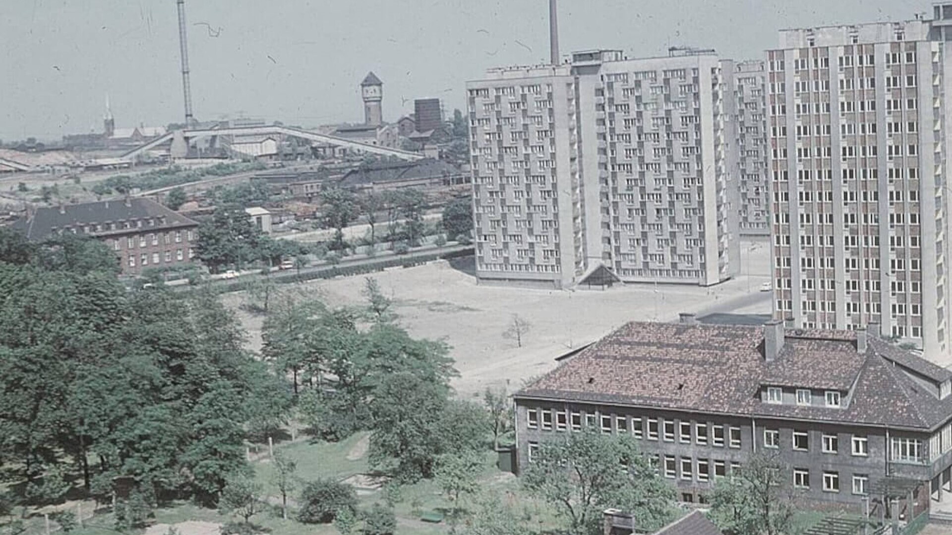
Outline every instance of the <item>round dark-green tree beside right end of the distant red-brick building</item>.
<svg viewBox="0 0 952 535">
<path fill-rule="evenodd" d="M 261 231 L 251 223 L 244 208 L 220 206 L 199 225 L 195 252 L 212 273 L 226 266 L 240 268 L 258 257 L 260 237 Z"/>
</svg>

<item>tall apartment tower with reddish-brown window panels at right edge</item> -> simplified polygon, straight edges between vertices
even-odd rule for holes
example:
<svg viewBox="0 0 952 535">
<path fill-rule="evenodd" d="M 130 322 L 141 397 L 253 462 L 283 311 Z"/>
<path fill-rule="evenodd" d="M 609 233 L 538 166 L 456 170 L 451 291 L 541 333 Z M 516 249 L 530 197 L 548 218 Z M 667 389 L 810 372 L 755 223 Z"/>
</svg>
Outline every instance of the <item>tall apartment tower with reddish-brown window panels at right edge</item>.
<svg viewBox="0 0 952 535">
<path fill-rule="evenodd" d="M 774 315 L 949 364 L 952 5 L 936 20 L 782 30 L 767 51 Z"/>
</svg>

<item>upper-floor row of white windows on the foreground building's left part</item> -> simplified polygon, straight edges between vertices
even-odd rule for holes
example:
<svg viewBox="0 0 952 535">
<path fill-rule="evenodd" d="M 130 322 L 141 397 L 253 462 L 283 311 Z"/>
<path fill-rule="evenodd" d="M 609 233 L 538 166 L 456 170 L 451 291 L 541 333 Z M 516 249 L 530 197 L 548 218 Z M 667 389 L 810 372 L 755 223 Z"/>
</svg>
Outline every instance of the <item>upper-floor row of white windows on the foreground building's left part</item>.
<svg viewBox="0 0 952 535">
<path fill-rule="evenodd" d="M 585 417 L 583 419 L 583 416 Z M 741 447 L 741 427 L 711 425 L 704 422 L 685 420 L 665 420 L 664 418 L 645 418 L 598 414 L 595 412 L 575 412 L 551 408 L 529 408 L 526 410 L 526 427 L 556 430 L 582 431 L 583 428 L 599 429 L 603 433 L 631 433 L 636 439 L 663 440 L 698 446 Z"/>
</svg>

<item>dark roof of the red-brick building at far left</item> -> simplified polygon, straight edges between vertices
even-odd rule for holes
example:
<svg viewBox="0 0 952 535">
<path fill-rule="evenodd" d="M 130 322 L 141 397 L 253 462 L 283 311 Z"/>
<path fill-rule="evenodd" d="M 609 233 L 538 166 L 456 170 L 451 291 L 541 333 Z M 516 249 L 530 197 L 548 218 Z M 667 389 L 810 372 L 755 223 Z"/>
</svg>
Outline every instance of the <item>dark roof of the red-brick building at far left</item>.
<svg viewBox="0 0 952 535">
<path fill-rule="evenodd" d="M 158 219 L 165 218 L 165 224 L 159 223 Z M 37 208 L 36 212 L 28 219 L 20 219 L 13 223 L 12 228 L 17 228 L 26 234 L 30 240 L 42 240 L 50 234 L 63 228 L 79 228 L 87 225 L 104 223 L 134 222 L 137 220 L 155 220 L 153 227 L 143 228 L 187 228 L 196 227 L 198 223 L 188 219 L 188 217 L 173 211 L 161 204 L 143 198 L 97 201 L 95 203 L 80 203 L 75 205 L 64 205 L 62 207 Z M 133 224 L 133 228 L 135 228 Z M 117 228 L 109 231 L 103 229 L 101 232 L 92 231 L 92 235 L 108 235 L 110 233 L 129 232 L 129 228 Z"/>
</svg>

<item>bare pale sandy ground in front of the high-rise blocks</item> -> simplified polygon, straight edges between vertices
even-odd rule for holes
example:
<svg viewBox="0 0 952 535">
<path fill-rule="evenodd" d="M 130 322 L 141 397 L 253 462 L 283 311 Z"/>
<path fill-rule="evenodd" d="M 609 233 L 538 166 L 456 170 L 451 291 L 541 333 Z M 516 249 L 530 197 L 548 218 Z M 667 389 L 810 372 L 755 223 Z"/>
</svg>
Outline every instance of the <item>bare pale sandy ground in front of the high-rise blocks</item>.
<svg viewBox="0 0 952 535">
<path fill-rule="evenodd" d="M 555 357 L 629 321 L 674 321 L 679 312 L 770 313 L 771 294 L 759 291 L 770 279 L 766 242 L 744 242 L 741 264 L 740 276 L 706 288 L 628 285 L 566 291 L 479 286 L 473 276 L 445 261 L 374 277 L 394 300 L 399 322 L 411 335 L 445 339 L 452 347 L 460 371 L 453 386 L 461 396 L 475 396 L 486 386 L 518 389 L 526 379 L 555 367 Z M 363 301 L 364 284 L 364 277 L 348 277 L 306 283 L 297 290 L 323 296 L 329 305 L 357 304 Z M 237 308 L 242 296 L 225 299 Z M 523 347 L 502 336 L 512 314 L 531 324 Z M 248 329 L 248 347 L 259 350 L 262 318 L 241 311 L 239 316 Z"/>
</svg>

